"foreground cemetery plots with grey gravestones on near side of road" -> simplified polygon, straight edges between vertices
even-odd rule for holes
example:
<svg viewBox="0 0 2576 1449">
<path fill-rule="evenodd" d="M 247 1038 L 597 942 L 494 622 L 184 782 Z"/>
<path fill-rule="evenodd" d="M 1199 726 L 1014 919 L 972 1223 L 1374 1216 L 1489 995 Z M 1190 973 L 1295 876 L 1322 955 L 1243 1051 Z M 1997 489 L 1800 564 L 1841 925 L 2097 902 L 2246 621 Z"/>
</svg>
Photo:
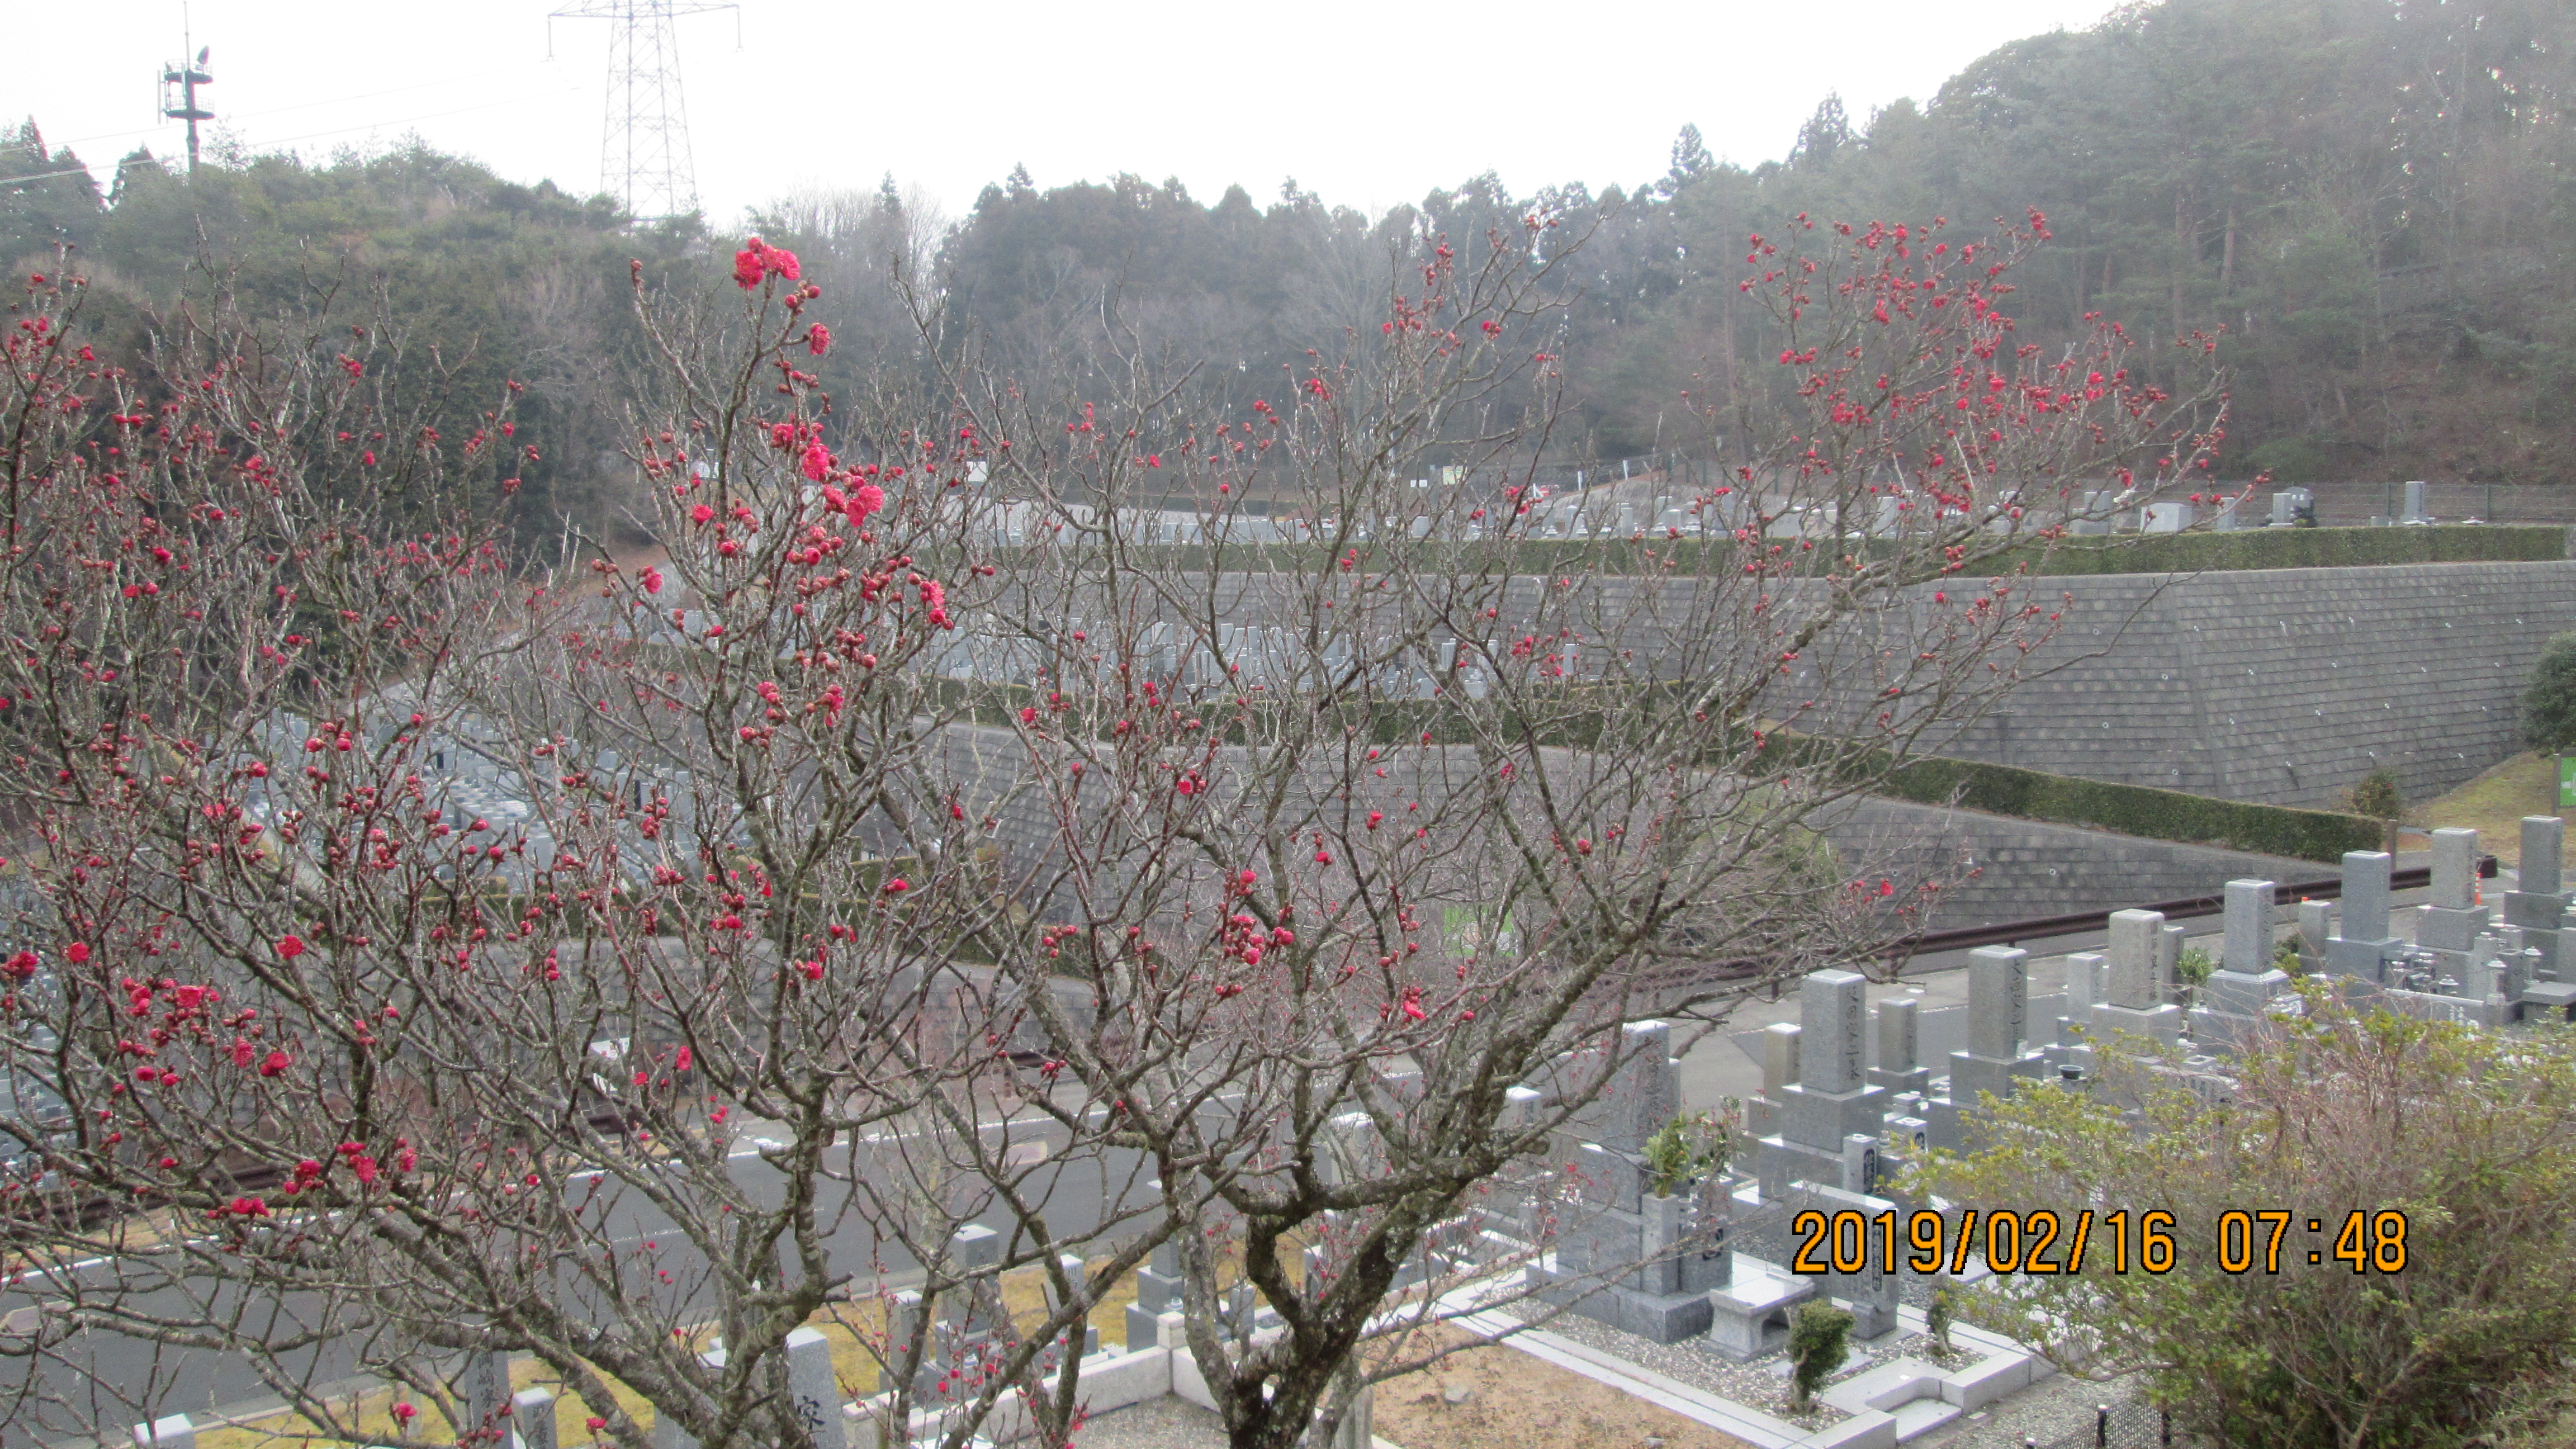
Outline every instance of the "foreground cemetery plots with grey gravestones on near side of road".
<svg viewBox="0 0 2576 1449">
<path fill-rule="evenodd" d="M 1878 1271 L 1862 1253 L 1860 1271 L 1834 1263 L 1795 1271 L 1803 1238 L 1814 1235 L 1795 1227 L 1798 1214 L 1875 1222 L 1927 1207 L 1904 1196 L 1899 1181 L 1911 1155 L 1971 1147 L 1986 1096 L 2092 1091 L 2107 1055 L 2161 1055 L 2159 1070 L 2174 1080 L 2226 1096 L 2231 1057 L 2264 1029 L 2264 1016 L 2298 1011 L 2295 977 L 2349 1003 L 2478 1031 L 2576 1018 L 2576 959 L 2561 954 L 2563 936 L 2576 931 L 2563 822 L 2522 822 L 2519 871 L 2501 892 L 2491 890 L 2496 861 L 2481 856 L 2476 830 L 2434 830 L 2429 853 L 2429 887 L 2403 905 L 2391 892 L 2396 861 L 2383 851 L 2347 853 L 2331 902 L 2280 900 L 2269 879 L 2228 879 L 2215 969 L 2197 985 L 2179 967 L 2187 938 L 2205 926 L 2156 910 L 2107 913 L 2099 949 L 2066 951 L 2038 972 L 2027 949 L 1978 946 L 1955 972 L 1965 977 L 1955 1006 L 1922 1006 L 1911 995 L 1922 985 L 1811 972 L 1788 1018 L 1700 1044 L 1741 1055 L 1759 1085 L 1726 1150 L 1685 1163 L 1680 1178 L 1656 1134 L 1705 1104 L 1685 1101 L 1687 1062 L 1674 1057 L 1674 1029 L 1631 1026 L 1610 1091 L 1525 1165 L 1507 1207 L 1479 1209 L 1432 1243 L 1427 1261 L 1450 1274 L 1443 1281 L 1466 1284 L 1432 1310 L 1458 1328 L 1510 1333 L 1510 1351 L 1762 1449 L 1886 1449 L 2009 1408 L 2058 1369 L 2009 1338 L 1929 1318 L 1935 1292 L 1976 1294 L 1991 1279 L 1984 1261 L 1963 1250 L 1958 1271 L 1924 1276 Z M 2061 985 L 2035 990 L 2035 975 Z M 1515 1088 L 1517 1111 L 1548 1106 L 1548 1083 Z M 1342 1119 L 1337 1132 L 1337 1171 L 1365 1173 L 1368 1119 Z M 966 1227 L 953 1253 L 966 1266 L 994 1263 L 999 1238 Z M 1497 1269 L 1476 1276 L 1476 1263 Z M 1332 1271 L 1324 1245 L 1306 1250 L 1303 1271 Z M 1180 1287 L 1167 1243 L 1133 1274 L 1110 1333 L 1095 1315 L 1079 1346 L 1056 1348 L 1082 1359 L 1097 1441 L 1121 1444 L 1123 1408 L 1167 1400 L 1213 1408 L 1188 1348 Z M 1814 1305 L 1847 1315 L 1850 1343 L 1816 1397 L 1793 1408 L 1785 1348 L 1798 1312 Z M 1419 1299 L 1391 1307 L 1419 1310 Z M 1221 1318 L 1236 1338 L 1278 1330 L 1247 1284 L 1229 1294 Z M 1005 1330 L 992 1297 L 951 1297 L 925 1315 L 917 1294 L 891 1294 L 886 1356 L 920 1343 L 914 1390 L 930 1405 L 914 1410 L 914 1439 L 935 1436 L 948 1379 L 971 1372 Z M 721 1364 L 721 1346 L 708 1361 Z M 876 1441 L 891 1369 L 876 1369 L 876 1395 L 853 1397 L 850 1346 L 814 1328 L 788 1338 L 788 1361 L 811 1423 L 837 1426 L 850 1444 Z M 464 1382 L 477 1395 L 471 1413 L 505 1405 L 518 1446 L 554 1449 L 549 1390 L 513 1392 L 502 1356 L 487 1356 Z M 1388 1444 L 1370 1431 L 1373 1392 L 1363 1392 L 1334 1449 Z M 979 1444 L 1007 1444 L 1020 1423 L 1005 1405 Z M 175 1415 L 137 1426 L 134 1444 L 193 1449 L 204 1428 Z M 677 1431 L 657 1444 L 693 1449 Z"/>
</svg>

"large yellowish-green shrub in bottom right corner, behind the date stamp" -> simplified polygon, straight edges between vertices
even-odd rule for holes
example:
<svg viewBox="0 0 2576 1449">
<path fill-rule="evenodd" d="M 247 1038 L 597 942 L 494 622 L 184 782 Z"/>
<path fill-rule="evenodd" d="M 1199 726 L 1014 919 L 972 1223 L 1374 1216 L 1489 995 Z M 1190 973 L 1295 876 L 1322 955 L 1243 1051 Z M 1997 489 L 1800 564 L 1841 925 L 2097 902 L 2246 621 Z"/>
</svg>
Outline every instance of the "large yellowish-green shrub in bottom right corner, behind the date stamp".
<svg viewBox="0 0 2576 1449">
<path fill-rule="evenodd" d="M 2174 1214 L 2172 1271 L 2112 1261 L 2097 1235 L 2079 1271 L 1986 1279 L 1978 1320 L 2040 1351 L 2084 1343 L 2102 1379 L 2138 1374 L 2177 1444 L 2509 1444 L 2512 1390 L 2566 1387 L 2576 1361 L 2576 1034 L 2421 1021 L 2313 980 L 2295 1006 L 2241 1044 L 2233 1093 L 2177 1091 L 2161 1055 L 2097 1052 L 2092 1091 L 1999 1101 L 1976 1152 L 1906 1191 L 2063 1222 Z M 2251 1271 L 2231 1274 L 2210 1232 L 2254 1204 L 2298 1220 L 2277 1271 L 2254 1220 Z M 2370 1271 L 2336 1250 L 2367 1250 Z"/>
</svg>

